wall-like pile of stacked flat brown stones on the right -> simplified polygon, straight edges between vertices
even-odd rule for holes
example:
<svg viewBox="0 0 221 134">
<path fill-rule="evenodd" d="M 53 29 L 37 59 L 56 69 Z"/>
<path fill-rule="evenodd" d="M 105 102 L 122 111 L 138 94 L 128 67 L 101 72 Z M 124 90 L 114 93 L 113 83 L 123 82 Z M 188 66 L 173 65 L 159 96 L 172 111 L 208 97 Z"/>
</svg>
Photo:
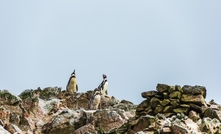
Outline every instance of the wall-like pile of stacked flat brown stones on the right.
<svg viewBox="0 0 221 134">
<path fill-rule="evenodd" d="M 153 115 L 158 113 L 166 117 L 183 113 L 188 115 L 190 111 L 200 113 L 204 116 L 208 106 L 206 104 L 206 88 L 203 86 L 169 86 L 158 84 L 157 91 L 143 92 L 141 95 L 145 100 L 136 109 L 136 117 Z"/>
</svg>

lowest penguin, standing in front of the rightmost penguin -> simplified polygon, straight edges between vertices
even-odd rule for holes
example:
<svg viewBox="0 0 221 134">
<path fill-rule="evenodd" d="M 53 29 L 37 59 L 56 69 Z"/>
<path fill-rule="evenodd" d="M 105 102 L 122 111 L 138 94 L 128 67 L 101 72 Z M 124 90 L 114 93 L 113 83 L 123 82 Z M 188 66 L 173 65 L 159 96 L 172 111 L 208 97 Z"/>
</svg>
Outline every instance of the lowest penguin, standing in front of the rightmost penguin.
<svg viewBox="0 0 221 134">
<path fill-rule="evenodd" d="M 101 92 L 96 90 L 94 95 L 91 97 L 89 101 L 88 109 L 97 110 L 98 106 L 100 105 L 100 102 L 101 102 Z"/>
</svg>

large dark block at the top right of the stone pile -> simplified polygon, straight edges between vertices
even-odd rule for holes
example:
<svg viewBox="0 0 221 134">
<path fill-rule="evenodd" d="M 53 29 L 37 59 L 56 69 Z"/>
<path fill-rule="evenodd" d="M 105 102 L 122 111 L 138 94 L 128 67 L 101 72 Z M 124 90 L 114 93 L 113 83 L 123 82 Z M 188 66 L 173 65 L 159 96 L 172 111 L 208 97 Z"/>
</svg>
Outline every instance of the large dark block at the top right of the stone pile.
<svg viewBox="0 0 221 134">
<path fill-rule="evenodd" d="M 206 88 L 204 86 L 185 85 L 182 90 L 183 94 L 202 95 L 204 99 L 206 98 Z"/>
</svg>

